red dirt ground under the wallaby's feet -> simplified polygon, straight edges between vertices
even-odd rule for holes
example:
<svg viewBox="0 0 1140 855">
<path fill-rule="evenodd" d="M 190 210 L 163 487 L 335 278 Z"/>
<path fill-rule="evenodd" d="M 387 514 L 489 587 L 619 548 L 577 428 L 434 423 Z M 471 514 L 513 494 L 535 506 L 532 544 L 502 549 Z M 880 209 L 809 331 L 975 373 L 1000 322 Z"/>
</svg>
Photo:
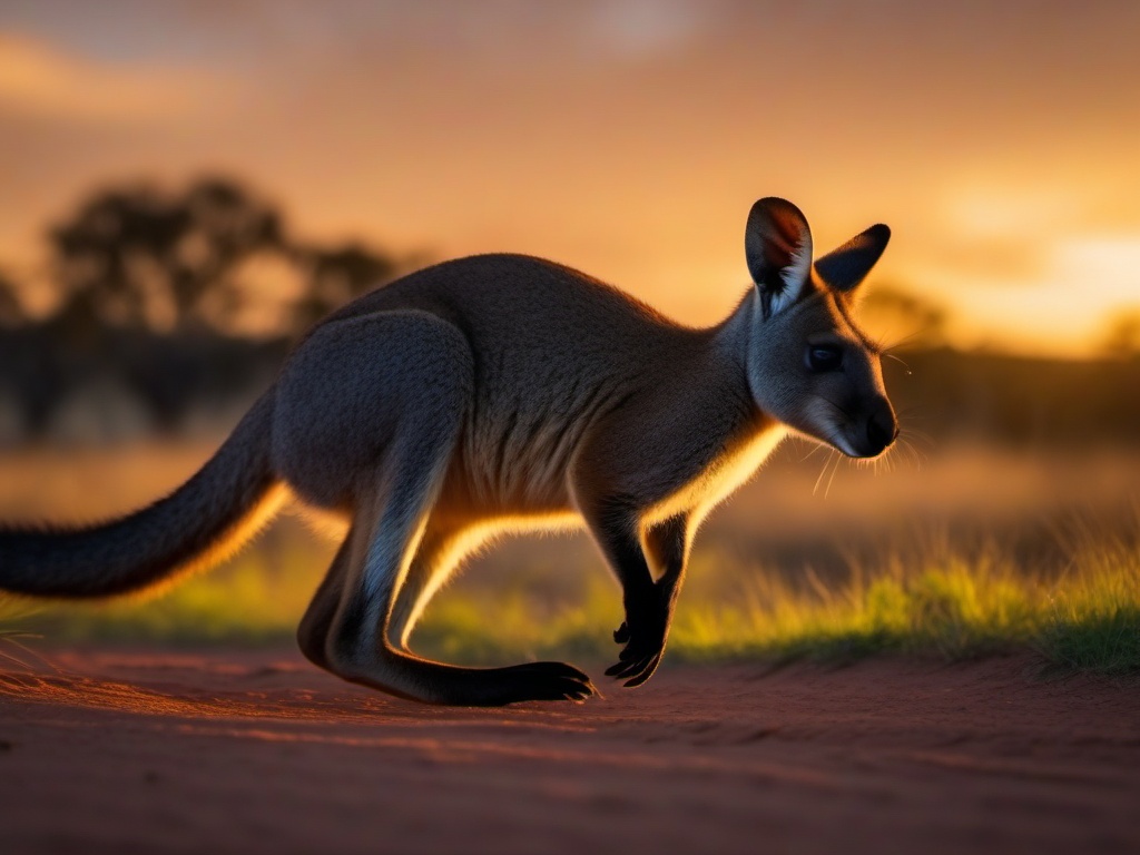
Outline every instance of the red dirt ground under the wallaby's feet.
<svg viewBox="0 0 1140 855">
<path fill-rule="evenodd" d="M 0 850 L 1140 852 L 1140 687 L 1025 659 L 666 668 L 439 709 L 292 653 L 0 678 Z"/>
</svg>

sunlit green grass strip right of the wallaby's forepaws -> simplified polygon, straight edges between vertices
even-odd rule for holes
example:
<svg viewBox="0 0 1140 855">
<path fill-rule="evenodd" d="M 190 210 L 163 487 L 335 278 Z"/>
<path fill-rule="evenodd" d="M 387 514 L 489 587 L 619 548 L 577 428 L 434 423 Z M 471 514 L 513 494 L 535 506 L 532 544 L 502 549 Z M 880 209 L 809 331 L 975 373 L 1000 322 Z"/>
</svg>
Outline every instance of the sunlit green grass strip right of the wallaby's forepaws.
<svg viewBox="0 0 1140 855">
<path fill-rule="evenodd" d="M 850 661 L 876 653 L 947 661 L 1033 649 L 1061 670 L 1140 673 L 1140 561 L 1114 556 L 1042 580 L 993 556 L 920 570 L 886 562 L 836 589 L 757 583 L 740 604 L 682 616 L 682 656 Z"/>
</svg>

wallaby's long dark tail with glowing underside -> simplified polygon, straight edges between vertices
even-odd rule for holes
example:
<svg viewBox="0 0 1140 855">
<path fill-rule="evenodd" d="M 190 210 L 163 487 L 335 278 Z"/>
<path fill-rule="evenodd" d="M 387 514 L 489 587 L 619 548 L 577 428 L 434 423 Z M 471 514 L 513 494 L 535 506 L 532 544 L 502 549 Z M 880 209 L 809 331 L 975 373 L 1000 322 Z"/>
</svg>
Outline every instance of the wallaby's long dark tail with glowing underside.
<svg viewBox="0 0 1140 855">
<path fill-rule="evenodd" d="M 140 511 L 90 527 L 0 529 L 0 591 L 123 594 L 233 554 L 288 496 L 270 467 L 272 408 L 270 392 L 189 481 Z"/>
</svg>

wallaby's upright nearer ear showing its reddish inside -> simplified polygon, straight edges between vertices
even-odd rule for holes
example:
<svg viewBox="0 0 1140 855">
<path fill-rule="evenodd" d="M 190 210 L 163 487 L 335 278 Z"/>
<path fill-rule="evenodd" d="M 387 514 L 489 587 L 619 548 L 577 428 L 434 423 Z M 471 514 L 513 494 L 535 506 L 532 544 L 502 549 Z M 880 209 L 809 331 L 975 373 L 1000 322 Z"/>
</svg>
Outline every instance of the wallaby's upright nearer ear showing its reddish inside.
<svg viewBox="0 0 1140 855">
<path fill-rule="evenodd" d="M 765 319 L 796 302 L 812 267 L 812 230 L 800 210 L 775 196 L 752 205 L 744 229 L 748 271 Z"/>
</svg>

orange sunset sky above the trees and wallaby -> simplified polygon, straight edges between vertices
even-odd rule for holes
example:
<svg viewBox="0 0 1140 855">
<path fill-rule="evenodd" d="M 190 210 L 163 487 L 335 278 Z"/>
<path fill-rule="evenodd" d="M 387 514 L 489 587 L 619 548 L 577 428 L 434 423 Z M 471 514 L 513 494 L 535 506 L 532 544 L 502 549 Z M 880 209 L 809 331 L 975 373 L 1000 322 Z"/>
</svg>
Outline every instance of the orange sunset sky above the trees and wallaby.
<svg viewBox="0 0 1140 855">
<path fill-rule="evenodd" d="M 711 323 L 782 195 L 820 249 L 891 225 L 877 278 L 958 343 L 1088 353 L 1140 307 L 1138 39 L 1130 0 L 3 0 L 0 268 L 96 185 L 220 170 L 298 231 Z"/>
</svg>

